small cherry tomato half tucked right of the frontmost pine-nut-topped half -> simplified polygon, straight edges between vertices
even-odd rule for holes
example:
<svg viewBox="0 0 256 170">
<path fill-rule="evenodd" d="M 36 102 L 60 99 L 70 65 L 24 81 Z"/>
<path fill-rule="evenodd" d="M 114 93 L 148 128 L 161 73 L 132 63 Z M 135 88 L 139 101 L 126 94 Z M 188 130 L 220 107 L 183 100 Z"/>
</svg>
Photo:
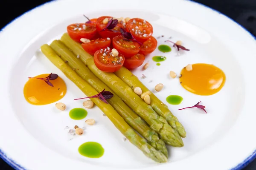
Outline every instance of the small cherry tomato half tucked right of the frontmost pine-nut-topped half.
<svg viewBox="0 0 256 170">
<path fill-rule="evenodd" d="M 134 68 L 140 67 L 145 61 L 145 56 L 143 54 L 135 54 L 133 57 L 125 59 L 125 68 L 132 70 Z"/>
</svg>

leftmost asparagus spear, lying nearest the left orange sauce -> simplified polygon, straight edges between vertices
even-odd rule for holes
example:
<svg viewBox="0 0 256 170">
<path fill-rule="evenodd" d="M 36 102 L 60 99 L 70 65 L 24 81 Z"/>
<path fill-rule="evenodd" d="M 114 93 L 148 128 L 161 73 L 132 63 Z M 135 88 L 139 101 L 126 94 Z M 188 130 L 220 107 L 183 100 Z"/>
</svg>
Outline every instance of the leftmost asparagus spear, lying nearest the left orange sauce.
<svg viewBox="0 0 256 170">
<path fill-rule="evenodd" d="M 65 62 L 58 57 L 52 48 L 44 44 L 41 46 L 41 51 L 46 55 L 46 57 L 58 67 L 72 82 L 74 82 L 82 92 L 87 96 L 93 96 L 98 94 L 94 88 L 92 88 L 84 79 L 79 77 L 75 71 L 73 71 L 70 66 L 65 64 Z M 99 99 L 91 99 L 95 105 L 97 105 L 111 122 L 116 126 L 116 128 L 135 146 L 137 146 L 143 153 L 149 158 L 157 162 L 166 162 L 167 158 L 163 153 L 157 151 L 154 147 L 146 142 L 146 140 L 140 137 L 125 121 L 122 117 L 115 111 L 115 109 Z"/>
</svg>

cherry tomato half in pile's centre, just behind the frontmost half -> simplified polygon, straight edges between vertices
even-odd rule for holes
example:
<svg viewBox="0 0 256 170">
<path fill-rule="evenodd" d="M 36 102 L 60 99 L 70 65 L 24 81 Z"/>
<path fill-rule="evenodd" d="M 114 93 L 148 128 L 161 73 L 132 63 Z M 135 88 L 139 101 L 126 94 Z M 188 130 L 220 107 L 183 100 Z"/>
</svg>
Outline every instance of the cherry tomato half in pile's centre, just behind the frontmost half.
<svg viewBox="0 0 256 170">
<path fill-rule="evenodd" d="M 125 40 L 122 35 L 116 36 L 112 40 L 113 48 L 116 48 L 125 58 L 131 58 L 140 51 L 140 44 L 131 40 Z"/>
</svg>

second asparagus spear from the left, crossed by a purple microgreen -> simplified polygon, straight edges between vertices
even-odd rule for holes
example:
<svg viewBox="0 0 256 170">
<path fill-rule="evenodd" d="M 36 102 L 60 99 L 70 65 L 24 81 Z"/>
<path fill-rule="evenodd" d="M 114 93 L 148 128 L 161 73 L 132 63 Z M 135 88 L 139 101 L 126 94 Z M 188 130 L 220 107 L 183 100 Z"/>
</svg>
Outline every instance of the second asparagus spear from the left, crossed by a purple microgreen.
<svg viewBox="0 0 256 170">
<path fill-rule="evenodd" d="M 54 40 L 50 47 L 56 51 L 56 53 L 63 59 L 67 61 L 67 64 L 71 68 L 75 68 L 76 73 L 86 80 L 96 91 L 101 92 L 103 89 L 106 91 L 111 91 L 108 86 L 106 86 L 101 80 L 99 80 L 81 61 L 77 58 L 76 55 L 70 51 L 66 45 L 64 45 L 60 40 Z M 114 94 L 114 93 L 113 93 Z M 134 113 L 131 108 L 126 105 L 122 99 L 120 99 L 116 94 L 111 99 L 108 99 L 108 102 L 112 107 L 125 119 L 131 127 L 137 130 L 140 135 L 148 140 L 148 143 L 151 144 L 155 149 L 162 152 L 166 157 L 168 157 L 167 148 L 163 140 L 159 139 L 159 136 L 154 130 L 151 130 L 148 125 Z"/>
</svg>

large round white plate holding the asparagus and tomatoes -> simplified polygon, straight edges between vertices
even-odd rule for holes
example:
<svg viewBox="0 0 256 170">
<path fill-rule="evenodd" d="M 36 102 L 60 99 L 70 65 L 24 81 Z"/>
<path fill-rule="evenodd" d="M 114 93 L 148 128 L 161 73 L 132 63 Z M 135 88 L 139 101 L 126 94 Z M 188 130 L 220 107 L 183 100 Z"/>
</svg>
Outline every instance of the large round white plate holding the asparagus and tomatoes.
<svg viewBox="0 0 256 170">
<path fill-rule="evenodd" d="M 169 94 L 183 96 L 180 105 L 169 108 L 187 131 L 182 148 L 169 147 L 169 161 L 157 164 L 143 155 L 130 142 L 123 142 L 99 108 L 88 110 L 87 118 L 97 124 L 88 127 L 83 136 L 69 141 L 65 126 L 83 125 L 84 120 L 69 118 L 71 108 L 81 107 L 84 96 L 64 74 L 52 65 L 39 51 L 40 46 L 59 38 L 70 23 L 84 22 L 88 17 L 112 15 L 140 17 L 154 27 L 159 44 L 172 36 L 182 40 L 191 51 L 177 57 L 173 48 L 164 54 L 167 60 L 156 66 L 151 60 L 154 51 L 145 61 L 146 71 L 137 69 L 134 74 L 153 89 L 157 83 L 165 88 L 156 95 L 163 101 Z M 255 63 L 256 41 L 241 26 L 224 15 L 186 0 L 120 1 L 120 0 L 58 0 L 44 4 L 22 15 L 3 28 L 0 33 L 0 156 L 16 169 L 30 170 L 226 170 L 239 169 L 254 156 L 256 147 L 255 119 Z M 212 96 L 198 96 L 184 90 L 178 79 L 168 78 L 170 70 L 179 72 L 188 63 L 205 62 L 221 68 L 226 74 L 224 88 Z M 28 76 L 54 72 L 67 83 L 67 94 L 61 99 L 68 108 L 60 112 L 54 104 L 34 106 L 23 97 L 23 85 Z M 153 82 L 149 83 L 150 80 Z M 201 110 L 178 108 L 194 105 L 198 101 L 206 106 Z M 79 145 L 96 141 L 105 148 L 100 159 L 79 155 Z"/>
</svg>

